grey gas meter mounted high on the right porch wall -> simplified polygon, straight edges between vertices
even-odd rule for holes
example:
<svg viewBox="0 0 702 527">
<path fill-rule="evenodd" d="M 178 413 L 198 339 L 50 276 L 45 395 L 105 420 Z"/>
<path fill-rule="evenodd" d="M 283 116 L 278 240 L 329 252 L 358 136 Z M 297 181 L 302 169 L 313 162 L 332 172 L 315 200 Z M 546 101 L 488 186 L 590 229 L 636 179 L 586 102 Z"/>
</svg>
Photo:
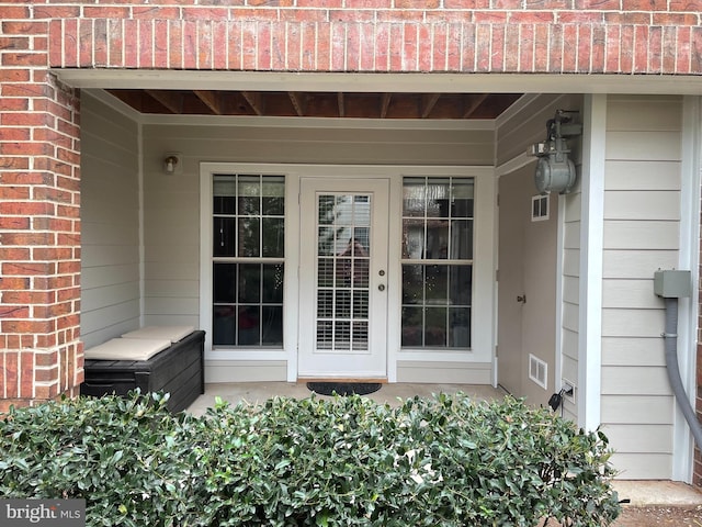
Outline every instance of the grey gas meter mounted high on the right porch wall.
<svg viewBox="0 0 702 527">
<path fill-rule="evenodd" d="M 568 143 L 565 137 L 582 134 L 582 125 L 571 123 L 576 111 L 556 111 L 556 116 L 546 123 L 546 141 L 536 143 L 528 154 L 539 157 L 534 183 L 540 193 L 559 192 L 567 194 L 576 183 L 575 164 L 568 158 Z"/>
</svg>

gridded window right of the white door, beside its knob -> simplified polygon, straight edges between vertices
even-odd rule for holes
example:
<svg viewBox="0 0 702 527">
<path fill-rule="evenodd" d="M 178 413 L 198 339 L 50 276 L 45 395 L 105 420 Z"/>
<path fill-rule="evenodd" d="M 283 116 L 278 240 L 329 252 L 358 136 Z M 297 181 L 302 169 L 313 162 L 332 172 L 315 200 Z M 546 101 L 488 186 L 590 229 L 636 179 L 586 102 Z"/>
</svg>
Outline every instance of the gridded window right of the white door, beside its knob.
<svg viewBox="0 0 702 527">
<path fill-rule="evenodd" d="M 405 178 L 404 348 L 471 347 L 473 178 Z"/>
</svg>

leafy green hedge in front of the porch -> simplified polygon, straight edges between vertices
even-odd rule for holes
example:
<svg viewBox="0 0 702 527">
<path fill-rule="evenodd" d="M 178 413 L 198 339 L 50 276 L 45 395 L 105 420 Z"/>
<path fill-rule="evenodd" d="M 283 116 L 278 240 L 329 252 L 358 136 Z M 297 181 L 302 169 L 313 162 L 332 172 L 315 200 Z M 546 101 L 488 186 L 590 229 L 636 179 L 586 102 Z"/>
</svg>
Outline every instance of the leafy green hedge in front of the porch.
<svg viewBox="0 0 702 527">
<path fill-rule="evenodd" d="M 573 526 L 619 514 L 607 438 L 510 397 L 80 399 L 0 422 L 0 495 L 84 497 L 90 526 Z"/>
</svg>

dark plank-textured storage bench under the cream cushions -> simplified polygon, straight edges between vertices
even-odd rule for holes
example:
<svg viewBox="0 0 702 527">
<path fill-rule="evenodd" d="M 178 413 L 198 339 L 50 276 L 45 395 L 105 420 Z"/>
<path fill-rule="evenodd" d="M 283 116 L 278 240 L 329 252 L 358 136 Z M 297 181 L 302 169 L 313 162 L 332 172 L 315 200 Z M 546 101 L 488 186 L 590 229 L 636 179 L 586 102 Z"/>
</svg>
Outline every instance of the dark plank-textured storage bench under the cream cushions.
<svg viewBox="0 0 702 527">
<path fill-rule="evenodd" d="M 205 392 L 204 348 L 205 332 L 194 330 L 147 360 L 86 359 L 81 394 L 169 392 L 168 408 L 180 412 Z"/>
</svg>

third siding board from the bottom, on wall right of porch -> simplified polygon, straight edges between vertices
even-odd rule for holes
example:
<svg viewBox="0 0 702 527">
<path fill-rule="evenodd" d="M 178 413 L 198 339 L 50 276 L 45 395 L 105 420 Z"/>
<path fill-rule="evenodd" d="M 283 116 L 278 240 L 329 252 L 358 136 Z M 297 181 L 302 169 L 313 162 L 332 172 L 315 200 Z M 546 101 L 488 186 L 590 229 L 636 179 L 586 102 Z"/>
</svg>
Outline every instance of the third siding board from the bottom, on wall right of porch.
<svg viewBox="0 0 702 527">
<path fill-rule="evenodd" d="M 649 423 L 672 425 L 675 415 L 672 396 L 620 396 L 602 397 L 602 422 L 620 424 Z"/>
</svg>

